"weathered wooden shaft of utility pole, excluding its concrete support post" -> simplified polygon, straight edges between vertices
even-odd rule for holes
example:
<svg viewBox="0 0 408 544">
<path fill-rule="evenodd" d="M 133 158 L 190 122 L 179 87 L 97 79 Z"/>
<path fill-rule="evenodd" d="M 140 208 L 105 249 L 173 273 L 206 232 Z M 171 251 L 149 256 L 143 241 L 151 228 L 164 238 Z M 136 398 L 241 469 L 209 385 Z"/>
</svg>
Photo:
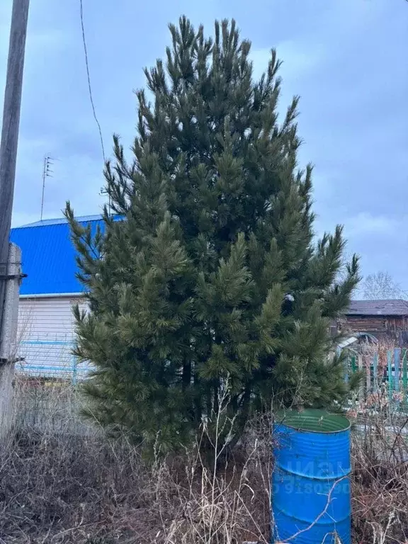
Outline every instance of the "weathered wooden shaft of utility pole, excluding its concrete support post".
<svg viewBox="0 0 408 544">
<path fill-rule="evenodd" d="M 18 128 L 20 125 L 21 89 L 23 86 L 29 4 L 30 0 L 13 0 L 6 91 L 4 93 L 3 128 L 1 130 L 0 144 L 0 350 L 5 311 L 4 296 L 8 281 L 8 244 L 11 211 L 13 209 L 14 179 L 16 177 Z"/>
</svg>

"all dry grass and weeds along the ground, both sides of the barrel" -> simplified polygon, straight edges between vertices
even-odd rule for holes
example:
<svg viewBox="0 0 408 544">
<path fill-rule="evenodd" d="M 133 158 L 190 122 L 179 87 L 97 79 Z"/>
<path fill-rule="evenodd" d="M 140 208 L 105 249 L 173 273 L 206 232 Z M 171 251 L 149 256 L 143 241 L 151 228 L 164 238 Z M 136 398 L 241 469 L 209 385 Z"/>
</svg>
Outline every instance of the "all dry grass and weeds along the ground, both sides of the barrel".
<svg viewBox="0 0 408 544">
<path fill-rule="evenodd" d="M 210 464 L 199 448 L 147 464 L 79 419 L 67 383 L 18 380 L 16 399 L 0 447 L 0 544 L 269 541 L 270 421 L 251 421 L 233 457 L 214 443 Z M 408 419 L 369 421 L 353 430 L 353 543 L 407 544 Z"/>
</svg>

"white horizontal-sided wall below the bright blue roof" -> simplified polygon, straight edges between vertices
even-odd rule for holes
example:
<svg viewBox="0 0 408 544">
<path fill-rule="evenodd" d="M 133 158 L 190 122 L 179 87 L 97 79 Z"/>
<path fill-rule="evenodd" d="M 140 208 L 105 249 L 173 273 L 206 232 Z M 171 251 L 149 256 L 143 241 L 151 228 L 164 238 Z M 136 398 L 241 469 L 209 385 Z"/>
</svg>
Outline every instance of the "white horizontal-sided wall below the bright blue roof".
<svg viewBox="0 0 408 544">
<path fill-rule="evenodd" d="M 72 305 L 83 297 L 33 297 L 20 299 L 18 307 L 17 356 L 23 358 L 16 370 L 37 376 L 81 378 L 87 366 L 77 364 L 74 346 Z"/>
</svg>

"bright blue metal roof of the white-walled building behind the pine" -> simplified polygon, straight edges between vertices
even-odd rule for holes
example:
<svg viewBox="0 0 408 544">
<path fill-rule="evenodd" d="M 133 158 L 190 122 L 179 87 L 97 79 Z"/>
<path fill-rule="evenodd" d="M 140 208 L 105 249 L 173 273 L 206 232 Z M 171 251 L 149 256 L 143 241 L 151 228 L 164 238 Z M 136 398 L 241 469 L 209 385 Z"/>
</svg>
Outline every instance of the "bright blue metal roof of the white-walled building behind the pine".
<svg viewBox="0 0 408 544">
<path fill-rule="evenodd" d="M 91 223 L 104 227 L 101 215 L 77 217 L 81 225 Z M 23 278 L 20 295 L 59 295 L 62 293 L 82 293 L 84 286 L 75 274 L 76 249 L 72 244 L 69 225 L 66 219 L 44 220 L 32 225 L 11 229 L 11 242 L 21 248 L 23 259 Z"/>
</svg>

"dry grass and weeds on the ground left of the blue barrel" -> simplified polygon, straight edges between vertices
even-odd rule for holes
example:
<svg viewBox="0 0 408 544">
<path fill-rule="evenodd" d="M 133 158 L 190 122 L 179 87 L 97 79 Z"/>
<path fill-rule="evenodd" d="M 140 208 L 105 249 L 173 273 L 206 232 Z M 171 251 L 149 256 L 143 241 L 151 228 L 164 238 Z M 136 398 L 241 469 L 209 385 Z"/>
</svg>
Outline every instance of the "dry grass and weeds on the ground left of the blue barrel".
<svg viewBox="0 0 408 544">
<path fill-rule="evenodd" d="M 16 387 L 16 426 L 0 448 L 0 544 L 268 541 L 271 448 L 258 432 L 234 458 L 216 448 L 215 465 L 198 448 L 147 464 L 79 420 L 71 386 Z"/>
</svg>

